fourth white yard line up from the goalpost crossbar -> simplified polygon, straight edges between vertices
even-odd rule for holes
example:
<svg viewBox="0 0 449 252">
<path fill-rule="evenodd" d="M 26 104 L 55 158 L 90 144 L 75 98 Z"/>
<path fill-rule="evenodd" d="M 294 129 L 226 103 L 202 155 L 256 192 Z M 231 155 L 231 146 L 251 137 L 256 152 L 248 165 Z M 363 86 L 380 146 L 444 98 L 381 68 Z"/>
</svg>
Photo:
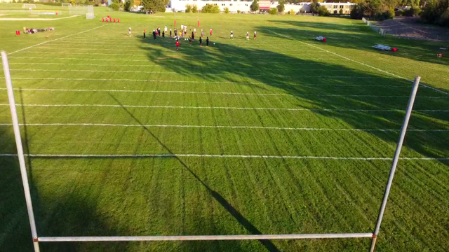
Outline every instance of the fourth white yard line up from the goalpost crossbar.
<svg viewBox="0 0 449 252">
<path fill-rule="evenodd" d="M 147 80 L 145 80 L 147 81 Z M 5 88 L 0 88 L 4 90 Z M 373 94 L 273 94 L 273 93 L 241 93 L 241 92 L 195 92 L 177 90 L 74 90 L 74 89 L 46 89 L 46 88 L 22 88 L 14 90 L 39 91 L 39 92 L 138 92 L 138 93 L 173 93 L 173 94 L 225 94 L 225 95 L 260 95 L 260 96 L 295 96 L 295 97 L 402 97 L 407 95 L 373 95 Z M 420 98 L 440 99 L 444 97 L 420 96 Z"/>
</svg>

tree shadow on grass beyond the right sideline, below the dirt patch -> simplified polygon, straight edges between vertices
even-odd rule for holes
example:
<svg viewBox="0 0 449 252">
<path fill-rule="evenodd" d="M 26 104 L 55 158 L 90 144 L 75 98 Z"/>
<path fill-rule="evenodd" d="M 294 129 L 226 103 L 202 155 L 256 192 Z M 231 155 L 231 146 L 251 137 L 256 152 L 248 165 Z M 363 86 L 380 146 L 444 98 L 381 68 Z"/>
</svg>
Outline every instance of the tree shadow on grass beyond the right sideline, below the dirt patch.
<svg viewBox="0 0 449 252">
<path fill-rule="evenodd" d="M 302 22 L 302 21 L 288 21 L 276 20 L 271 21 L 277 26 L 288 25 L 289 28 L 282 27 L 272 29 L 269 27 L 260 27 L 260 30 L 273 30 L 279 34 L 291 36 L 300 41 L 309 41 L 307 43 L 314 43 L 313 38 L 316 36 L 326 36 L 328 41 L 326 43 L 340 48 L 354 48 L 363 49 L 368 52 L 375 52 L 379 54 L 392 55 L 391 52 L 384 52 L 372 48 L 376 43 L 390 45 L 398 48 L 394 52 L 395 57 L 404 57 L 407 59 L 414 59 L 422 62 L 431 62 L 441 65 L 449 65 L 449 61 L 445 57 L 436 57 L 439 48 L 447 47 L 447 43 L 434 41 L 416 41 L 405 38 L 397 38 L 392 36 L 382 37 L 375 31 L 361 23 L 360 25 L 333 25 L 322 22 Z M 266 34 L 277 36 L 272 32 L 266 31 Z M 282 38 L 282 36 L 280 36 Z"/>
</svg>

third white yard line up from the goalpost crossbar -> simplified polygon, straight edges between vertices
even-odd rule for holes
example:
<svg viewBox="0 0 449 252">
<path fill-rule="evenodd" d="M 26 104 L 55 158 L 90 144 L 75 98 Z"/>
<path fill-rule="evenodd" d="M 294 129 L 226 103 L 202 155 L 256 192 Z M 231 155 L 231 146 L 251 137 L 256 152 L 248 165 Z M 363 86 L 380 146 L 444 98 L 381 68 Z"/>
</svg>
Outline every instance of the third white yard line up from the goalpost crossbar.
<svg viewBox="0 0 449 252">
<path fill-rule="evenodd" d="M 9 106 L 9 104 L 0 104 Z M 110 104 L 23 104 L 30 107 L 112 107 L 112 108 L 142 108 L 142 109 L 229 109 L 229 110 L 267 110 L 267 111 L 332 111 L 332 112 L 405 112 L 401 109 L 293 109 L 293 108 L 251 108 L 251 107 L 227 107 L 227 106 L 147 106 L 147 105 L 110 105 Z M 413 112 L 447 113 L 449 110 L 414 109 Z"/>
</svg>

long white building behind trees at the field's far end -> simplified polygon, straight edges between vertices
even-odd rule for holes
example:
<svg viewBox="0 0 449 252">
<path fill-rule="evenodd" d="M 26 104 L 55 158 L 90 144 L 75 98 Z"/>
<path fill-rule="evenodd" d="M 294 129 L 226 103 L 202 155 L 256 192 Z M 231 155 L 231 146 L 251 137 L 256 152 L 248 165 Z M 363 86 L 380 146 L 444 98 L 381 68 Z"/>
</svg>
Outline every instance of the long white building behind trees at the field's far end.
<svg viewBox="0 0 449 252">
<path fill-rule="evenodd" d="M 229 11 L 231 13 L 236 13 L 237 10 L 244 11 L 246 13 L 250 12 L 250 6 L 253 1 L 196 1 L 196 0 L 170 0 L 170 8 L 174 9 L 175 11 L 179 10 L 185 10 L 185 6 L 187 4 L 190 5 L 196 5 L 199 10 L 203 8 L 203 6 L 206 6 L 206 4 L 212 4 L 220 7 L 222 11 L 225 10 L 225 8 L 229 8 Z M 337 10 L 337 13 L 340 13 L 340 9 L 343 10 L 344 14 L 349 14 L 351 12 L 352 6 L 354 6 L 355 3 L 320 3 L 321 6 L 326 6 L 328 8 L 330 13 L 334 13 L 335 10 Z M 270 2 L 271 8 L 276 8 L 279 5 L 278 1 L 272 1 Z M 266 5 L 261 4 L 261 1 L 259 1 L 260 9 L 266 8 Z M 294 10 L 297 12 L 309 12 L 310 11 L 310 2 L 303 2 L 303 3 L 297 3 L 297 4 L 286 4 L 285 5 L 285 11 Z"/>
</svg>

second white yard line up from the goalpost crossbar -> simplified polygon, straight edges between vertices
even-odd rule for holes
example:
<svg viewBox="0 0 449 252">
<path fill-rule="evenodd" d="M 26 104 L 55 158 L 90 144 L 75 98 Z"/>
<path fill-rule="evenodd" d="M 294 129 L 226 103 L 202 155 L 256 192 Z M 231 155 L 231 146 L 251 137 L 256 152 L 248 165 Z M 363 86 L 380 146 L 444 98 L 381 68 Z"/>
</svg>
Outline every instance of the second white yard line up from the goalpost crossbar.
<svg viewBox="0 0 449 252">
<path fill-rule="evenodd" d="M 0 123 L 0 126 L 12 126 L 12 123 Z M 140 125 L 114 123 L 20 123 L 20 126 L 94 126 L 94 127 L 175 127 L 175 128 L 212 128 L 241 130 L 289 130 L 289 131 L 336 131 L 336 132 L 398 132 L 400 129 L 333 129 L 309 127 L 264 127 L 264 126 L 226 126 L 226 125 Z M 408 132 L 449 132 L 448 130 L 409 129 Z"/>
</svg>

